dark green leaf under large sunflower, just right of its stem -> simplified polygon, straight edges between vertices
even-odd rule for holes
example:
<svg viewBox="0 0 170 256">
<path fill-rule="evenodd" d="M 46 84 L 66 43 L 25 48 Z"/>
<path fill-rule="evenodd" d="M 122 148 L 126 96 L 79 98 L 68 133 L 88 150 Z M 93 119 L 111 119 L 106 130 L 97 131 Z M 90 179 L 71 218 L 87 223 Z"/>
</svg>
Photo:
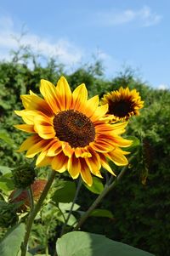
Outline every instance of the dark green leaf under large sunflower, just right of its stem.
<svg viewBox="0 0 170 256">
<path fill-rule="evenodd" d="M 61 186 L 59 185 L 59 189 L 54 192 L 54 196 L 52 200 L 55 203 L 59 202 L 72 202 L 76 193 L 76 185 L 75 182 L 72 181 L 62 181 Z"/>
</svg>

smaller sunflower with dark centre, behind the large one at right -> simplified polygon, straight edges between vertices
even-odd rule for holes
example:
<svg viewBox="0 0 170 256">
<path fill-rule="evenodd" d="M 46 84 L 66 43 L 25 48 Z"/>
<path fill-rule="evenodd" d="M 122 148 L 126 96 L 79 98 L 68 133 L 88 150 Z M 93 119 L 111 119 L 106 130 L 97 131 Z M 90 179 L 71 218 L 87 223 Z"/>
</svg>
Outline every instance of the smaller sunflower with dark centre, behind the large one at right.
<svg viewBox="0 0 170 256">
<path fill-rule="evenodd" d="M 139 92 L 129 88 L 119 88 L 111 94 L 105 94 L 101 99 L 101 104 L 108 104 L 107 114 L 113 116 L 114 121 L 126 121 L 129 117 L 138 116 L 139 109 L 143 108 L 144 101 L 141 101 Z"/>
</svg>

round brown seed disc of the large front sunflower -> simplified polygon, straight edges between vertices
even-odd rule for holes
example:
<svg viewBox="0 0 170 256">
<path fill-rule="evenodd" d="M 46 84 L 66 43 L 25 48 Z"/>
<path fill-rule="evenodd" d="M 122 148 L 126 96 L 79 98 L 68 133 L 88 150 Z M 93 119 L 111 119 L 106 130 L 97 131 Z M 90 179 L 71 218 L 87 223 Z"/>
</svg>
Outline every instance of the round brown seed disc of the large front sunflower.
<svg viewBox="0 0 170 256">
<path fill-rule="evenodd" d="M 95 129 L 91 120 L 78 111 L 61 111 L 54 117 L 54 130 L 59 140 L 72 148 L 84 147 L 94 141 Z"/>
</svg>

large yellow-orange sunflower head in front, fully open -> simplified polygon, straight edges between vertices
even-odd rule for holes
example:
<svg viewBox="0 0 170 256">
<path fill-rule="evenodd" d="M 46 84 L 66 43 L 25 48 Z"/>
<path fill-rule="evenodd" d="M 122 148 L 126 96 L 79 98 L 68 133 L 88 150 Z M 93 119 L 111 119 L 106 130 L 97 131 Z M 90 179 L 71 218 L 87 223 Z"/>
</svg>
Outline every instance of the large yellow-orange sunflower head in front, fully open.
<svg viewBox="0 0 170 256">
<path fill-rule="evenodd" d="M 14 126 L 31 134 L 19 151 L 26 151 L 28 158 L 38 154 L 37 167 L 51 165 L 59 173 L 68 170 L 73 179 L 81 175 L 92 185 L 91 174 L 102 178 L 101 167 L 115 175 L 109 159 L 118 166 L 127 165 L 127 151 L 120 148 L 132 144 L 120 136 L 127 122 L 109 123 L 108 105 L 99 106 L 97 95 L 88 100 L 85 84 L 71 93 L 65 77 L 56 87 L 41 80 L 40 92 L 43 99 L 31 91 L 21 95 L 25 109 L 15 113 L 26 123 Z"/>
</svg>

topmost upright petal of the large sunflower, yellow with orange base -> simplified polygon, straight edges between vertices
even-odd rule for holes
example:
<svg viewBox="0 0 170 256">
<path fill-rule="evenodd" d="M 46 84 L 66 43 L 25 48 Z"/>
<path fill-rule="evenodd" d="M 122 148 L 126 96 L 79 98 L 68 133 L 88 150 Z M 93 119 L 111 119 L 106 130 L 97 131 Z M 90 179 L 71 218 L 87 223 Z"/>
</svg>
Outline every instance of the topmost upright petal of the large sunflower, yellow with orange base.
<svg viewBox="0 0 170 256">
<path fill-rule="evenodd" d="M 68 110 L 71 106 L 72 94 L 71 88 L 65 77 L 60 77 L 57 82 L 56 92 L 60 103 L 60 110 Z"/>
</svg>

